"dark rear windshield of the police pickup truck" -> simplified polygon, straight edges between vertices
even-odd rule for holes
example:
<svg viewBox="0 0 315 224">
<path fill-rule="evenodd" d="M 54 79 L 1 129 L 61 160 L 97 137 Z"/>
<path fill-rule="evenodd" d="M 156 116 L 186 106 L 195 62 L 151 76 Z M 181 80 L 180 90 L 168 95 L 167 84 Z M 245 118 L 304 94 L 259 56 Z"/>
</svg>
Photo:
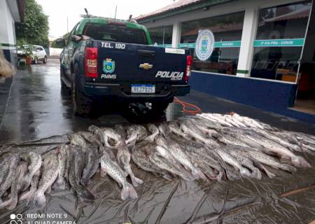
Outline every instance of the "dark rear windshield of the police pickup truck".
<svg viewBox="0 0 315 224">
<path fill-rule="evenodd" d="M 83 29 L 83 35 L 99 41 L 148 44 L 146 33 L 142 29 L 118 25 L 87 23 Z"/>
</svg>

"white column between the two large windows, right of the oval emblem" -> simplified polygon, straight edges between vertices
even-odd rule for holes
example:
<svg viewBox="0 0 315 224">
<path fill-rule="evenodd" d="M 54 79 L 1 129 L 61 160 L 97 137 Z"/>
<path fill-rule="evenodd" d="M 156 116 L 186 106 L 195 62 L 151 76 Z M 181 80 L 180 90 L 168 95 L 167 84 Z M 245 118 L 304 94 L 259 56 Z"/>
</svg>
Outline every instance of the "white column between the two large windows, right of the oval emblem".
<svg viewBox="0 0 315 224">
<path fill-rule="evenodd" d="M 249 77 L 253 61 L 253 41 L 258 27 L 258 7 L 248 6 L 245 10 L 243 32 L 241 34 L 241 49 L 239 50 L 239 64 L 237 76 Z"/>
</svg>

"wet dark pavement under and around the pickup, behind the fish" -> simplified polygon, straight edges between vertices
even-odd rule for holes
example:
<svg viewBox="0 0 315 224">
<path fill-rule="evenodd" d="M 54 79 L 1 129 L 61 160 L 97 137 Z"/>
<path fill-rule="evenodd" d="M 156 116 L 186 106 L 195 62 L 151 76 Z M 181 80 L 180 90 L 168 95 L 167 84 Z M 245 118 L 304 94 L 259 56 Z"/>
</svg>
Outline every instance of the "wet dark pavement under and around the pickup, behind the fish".
<svg viewBox="0 0 315 224">
<path fill-rule="evenodd" d="M 210 97 L 201 92 L 192 91 L 190 96 L 180 99 L 200 106 L 202 112 L 235 111 L 242 116 L 258 118 L 286 130 L 315 134 L 314 125 Z M 33 64 L 28 69 L 19 70 L 13 80 L 8 107 L 0 130 L 0 145 L 86 130 L 91 124 L 112 126 L 116 123 L 145 123 L 146 121 L 172 120 L 186 115 L 182 112 L 182 106 L 174 103 L 169 105 L 165 114 L 146 118 L 125 111 L 120 105 L 99 105 L 94 111 L 97 111 L 97 114 L 90 118 L 73 116 L 69 93 L 62 92 L 60 88 L 58 59 L 49 59 L 47 64 L 41 64 L 41 62 Z"/>
</svg>

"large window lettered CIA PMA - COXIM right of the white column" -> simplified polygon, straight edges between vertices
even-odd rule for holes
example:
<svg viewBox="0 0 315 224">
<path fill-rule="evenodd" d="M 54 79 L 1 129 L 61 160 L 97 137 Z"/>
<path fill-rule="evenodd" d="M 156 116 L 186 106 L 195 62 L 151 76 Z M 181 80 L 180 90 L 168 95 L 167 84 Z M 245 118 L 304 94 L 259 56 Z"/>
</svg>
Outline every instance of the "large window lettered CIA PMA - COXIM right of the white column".
<svg viewBox="0 0 315 224">
<path fill-rule="evenodd" d="M 260 9 L 252 77 L 296 81 L 310 11 L 311 1 Z"/>
</svg>

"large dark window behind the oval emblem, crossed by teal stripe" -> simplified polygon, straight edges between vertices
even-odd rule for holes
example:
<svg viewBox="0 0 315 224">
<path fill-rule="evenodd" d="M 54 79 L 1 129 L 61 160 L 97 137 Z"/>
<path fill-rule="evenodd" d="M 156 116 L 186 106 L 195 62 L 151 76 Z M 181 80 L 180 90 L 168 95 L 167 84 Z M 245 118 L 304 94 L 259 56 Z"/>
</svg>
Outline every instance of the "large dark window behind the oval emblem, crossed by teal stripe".
<svg viewBox="0 0 315 224">
<path fill-rule="evenodd" d="M 235 75 L 243 23 L 244 12 L 183 22 L 179 47 L 190 48 L 194 55 L 193 69 Z M 214 52 L 205 62 L 197 59 L 194 50 L 194 44 L 201 29 L 210 29 L 216 41 Z"/>
</svg>

